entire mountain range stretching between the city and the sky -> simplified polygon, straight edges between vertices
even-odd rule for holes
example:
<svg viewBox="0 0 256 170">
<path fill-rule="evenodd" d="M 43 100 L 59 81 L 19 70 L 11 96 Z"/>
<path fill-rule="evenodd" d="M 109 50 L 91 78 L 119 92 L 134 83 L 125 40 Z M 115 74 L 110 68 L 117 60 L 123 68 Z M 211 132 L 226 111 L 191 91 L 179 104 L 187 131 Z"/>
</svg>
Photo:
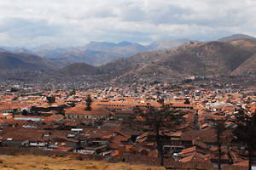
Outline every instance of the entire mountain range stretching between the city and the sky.
<svg viewBox="0 0 256 170">
<path fill-rule="evenodd" d="M 36 55 L 38 54 L 38 55 Z M 81 47 L 44 45 L 9 51 L 0 48 L 1 72 L 58 71 L 66 75 L 129 74 L 244 75 L 254 74 L 256 39 L 247 35 L 218 41 L 188 39 L 153 42 L 90 42 Z"/>
</svg>

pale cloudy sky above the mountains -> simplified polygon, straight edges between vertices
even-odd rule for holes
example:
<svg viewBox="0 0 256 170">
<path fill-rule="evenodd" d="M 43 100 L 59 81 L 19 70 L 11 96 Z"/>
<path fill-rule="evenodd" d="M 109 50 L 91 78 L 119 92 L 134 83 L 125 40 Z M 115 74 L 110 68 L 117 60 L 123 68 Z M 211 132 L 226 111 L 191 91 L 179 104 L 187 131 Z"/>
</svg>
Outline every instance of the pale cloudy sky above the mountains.
<svg viewBox="0 0 256 170">
<path fill-rule="evenodd" d="M 1 0 L 0 46 L 256 37 L 255 0 Z"/>
</svg>

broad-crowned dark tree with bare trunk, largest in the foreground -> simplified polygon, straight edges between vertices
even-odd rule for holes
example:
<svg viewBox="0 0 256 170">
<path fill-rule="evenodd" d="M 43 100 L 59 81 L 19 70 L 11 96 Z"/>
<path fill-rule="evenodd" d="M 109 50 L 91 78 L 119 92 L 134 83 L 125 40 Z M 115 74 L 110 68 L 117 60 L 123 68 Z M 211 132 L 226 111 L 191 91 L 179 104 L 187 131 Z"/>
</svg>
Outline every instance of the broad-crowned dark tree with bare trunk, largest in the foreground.
<svg viewBox="0 0 256 170">
<path fill-rule="evenodd" d="M 139 125 L 144 131 L 154 133 L 156 148 L 160 153 L 161 165 L 164 165 L 160 130 L 170 128 L 172 131 L 176 131 L 186 113 L 171 109 L 171 105 L 162 105 L 160 108 L 148 105 L 147 108 L 148 111 L 140 110 L 139 107 L 136 108 L 135 111 L 137 111 L 138 115 L 132 124 L 134 126 Z"/>
</svg>

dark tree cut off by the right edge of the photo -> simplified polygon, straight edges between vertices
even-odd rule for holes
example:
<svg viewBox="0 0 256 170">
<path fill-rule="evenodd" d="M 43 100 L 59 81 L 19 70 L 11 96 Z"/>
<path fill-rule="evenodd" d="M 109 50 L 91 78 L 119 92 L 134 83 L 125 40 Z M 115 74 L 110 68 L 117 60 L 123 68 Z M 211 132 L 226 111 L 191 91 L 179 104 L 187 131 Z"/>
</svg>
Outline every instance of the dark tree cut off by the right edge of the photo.
<svg viewBox="0 0 256 170">
<path fill-rule="evenodd" d="M 247 150 L 248 169 L 252 169 L 252 156 L 256 151 L 256 113 L 247 114 L 244 110 L 236 113 L 236 128 L 232 130 L 233 144 L 241 144 Z"/>
</svg>

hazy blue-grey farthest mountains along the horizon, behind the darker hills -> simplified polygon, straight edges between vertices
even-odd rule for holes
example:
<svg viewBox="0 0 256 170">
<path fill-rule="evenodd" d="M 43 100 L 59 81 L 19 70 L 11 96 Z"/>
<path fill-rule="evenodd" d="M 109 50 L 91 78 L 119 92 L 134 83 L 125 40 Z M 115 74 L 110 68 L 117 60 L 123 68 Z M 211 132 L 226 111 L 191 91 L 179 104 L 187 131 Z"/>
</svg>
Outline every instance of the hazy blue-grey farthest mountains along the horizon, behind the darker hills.
<svg viewBox="0 0 256 170">
<path fill-rule="evenodd" d="M 183 39 L 154 42 L 149 46 L 132 42 L 90 42 L 76 48 L 60 48 L 55 45 L 46 45 L 38 48 L 44 49 L 43 51 L 35 51 L 34 53 L 45 58 L 51 58 L 51 60 L 59 62 L 64 66 L 79 62 L 85 62 L 90 65 L 104 65 L 114 59 L 130 57 L 140 52 L 153 51 L 155 49 L 176 48 L 188 42 L 190 42 L 188 39 Z M 56 49 L 54 49 L 55 47 Z"/>
</svg>

